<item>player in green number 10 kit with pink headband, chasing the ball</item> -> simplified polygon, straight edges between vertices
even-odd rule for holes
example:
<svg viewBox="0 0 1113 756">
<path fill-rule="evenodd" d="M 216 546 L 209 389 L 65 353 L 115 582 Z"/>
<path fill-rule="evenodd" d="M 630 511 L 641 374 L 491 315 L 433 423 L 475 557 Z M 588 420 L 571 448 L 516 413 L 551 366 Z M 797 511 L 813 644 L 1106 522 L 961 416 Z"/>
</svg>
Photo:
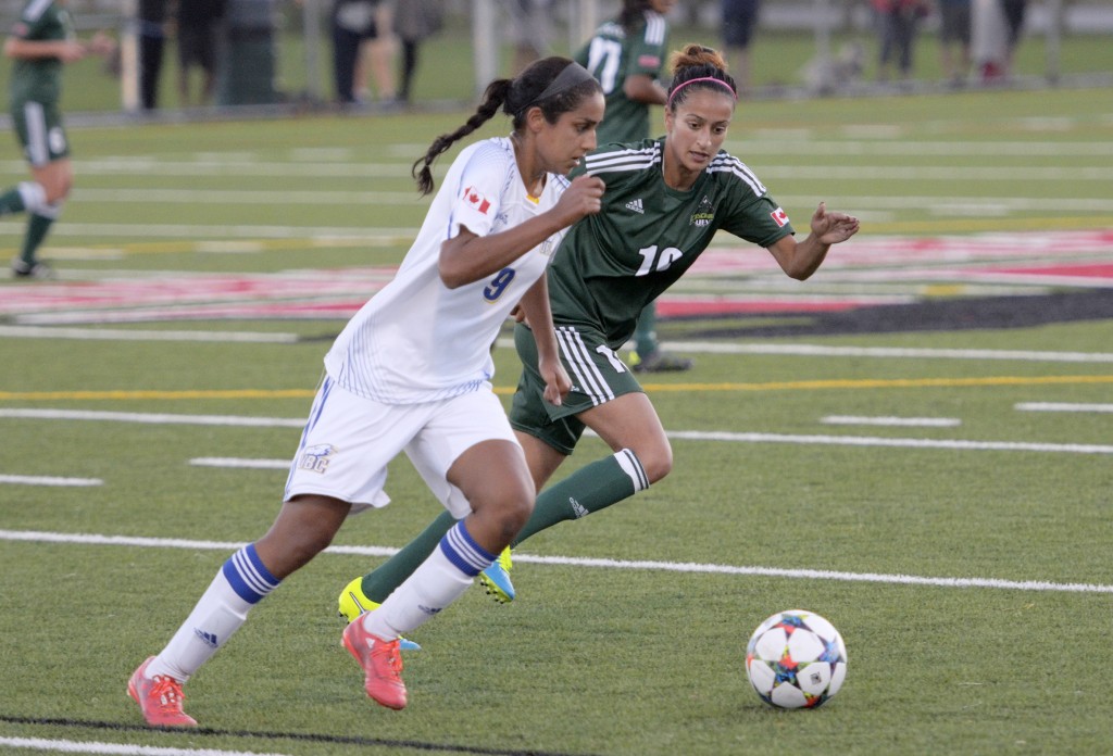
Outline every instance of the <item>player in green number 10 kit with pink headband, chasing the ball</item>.
<svg viewBox="0 0 1113 756">
<path fill-rule="evenodd" d="M 721 56 L 690 44 L 673 56 L 664 108 L 666 136 L 601 147 L 572 175 L 607 185 L 602 211 L 569 230 L 549 268 L 549 295 L 561 359 L 572 389 L 560 407 L 543 401 L 544 381 L 526 324 L 514 341 L 522 376 L 511 425 L 538 490 L 591 428 L 614 454 L 542 491 L 513 545 L 556 523 L 584 517 L 644 490 L 672 469 L 672 448 L 649 397 L 617 350 L 647 302 L 671 286 L 722 229 L 765 247 L 791 278 L 805 280 L 831 245 L 858 232 L 858 219 L 820 202 L 811 232 L 794 237 L 788 216 L 738 158 L 721 151 L 737 101 Z M 605 117 L 604 117 L 605 118 Z M 375 608 L 454 525 L 442 515 L 375 571 L 339 597 L 348 619 Z M 504 563 L 484 574 L 489 593 L 513 597 Z"/>
</svg>

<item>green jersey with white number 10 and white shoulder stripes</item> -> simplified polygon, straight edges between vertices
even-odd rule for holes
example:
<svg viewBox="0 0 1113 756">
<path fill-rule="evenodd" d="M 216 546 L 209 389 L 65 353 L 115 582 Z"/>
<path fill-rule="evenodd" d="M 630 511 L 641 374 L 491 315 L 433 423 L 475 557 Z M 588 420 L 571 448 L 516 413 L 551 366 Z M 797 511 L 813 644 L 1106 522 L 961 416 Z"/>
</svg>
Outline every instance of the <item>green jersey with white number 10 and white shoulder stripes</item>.
<svg viewBox="0 0 1113 756">
<path fill-rule="evenodd" d="M 720 151 L 688 191 L 664 183 L 664 138 L 601 148 L 572 175 L 607 183 L 602 211 L 578 221 L 549 268 L 553 321 L 599 331 L 620 348 L 646 305 L 668 289 L 720 228 L 760 247 L 794 233 L 788 216 L 738 158 Z"/>
</svg>

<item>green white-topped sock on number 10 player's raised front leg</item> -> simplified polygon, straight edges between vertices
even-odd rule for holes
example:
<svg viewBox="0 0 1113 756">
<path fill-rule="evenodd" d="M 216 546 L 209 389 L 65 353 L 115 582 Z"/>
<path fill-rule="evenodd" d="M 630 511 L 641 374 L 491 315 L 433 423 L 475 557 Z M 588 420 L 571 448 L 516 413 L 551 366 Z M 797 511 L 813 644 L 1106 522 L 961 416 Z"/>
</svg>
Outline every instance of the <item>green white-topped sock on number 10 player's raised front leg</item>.
<svg viewBox="0 0 1113 756">
<path fill-rule="evenodd" d="M 623 449 L 593 461 L 541 491 L 533 514 L 512 546 L 558 523 L 605 509 L 646 488 L 649 488 L 649 480 L 633 451 Z"/>
</svg>

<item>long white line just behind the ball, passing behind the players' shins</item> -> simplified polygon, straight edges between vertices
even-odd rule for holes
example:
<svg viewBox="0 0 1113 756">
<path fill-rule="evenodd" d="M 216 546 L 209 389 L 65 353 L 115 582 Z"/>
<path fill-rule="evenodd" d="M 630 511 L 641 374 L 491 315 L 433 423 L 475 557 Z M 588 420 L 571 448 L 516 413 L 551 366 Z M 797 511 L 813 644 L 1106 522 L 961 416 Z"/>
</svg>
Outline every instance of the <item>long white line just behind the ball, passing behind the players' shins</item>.
<svg viewBox="0 0 1113 756">
<path fill-rule="evenodd" d="M 193 550 L 236 551 L 243 543 L 215 540 L 186 540 L 181 538 L 141 538 L 132 536 L 105 536 L 99 534 L 47 533 L 41 530 L 0 530 L 0 540 L 40 544 L 80 544 L 86 546 L 128 546 L 138 548 L 183 548 Z M 346 556 L 394 556 L 398 549 L 383 546 L 329 546 L 326 554 Z M 778 567 L 737 567 L 709 565 L 695 561 L 648 561 L 627 559 L 592 559 L 584 557 L 542 557 L 514 551 L 514 559 L 536 565 L 561 567 L 593 567 L 597 569 L 662 570 L 703 575 L 746 575 L 786 577 L 796 579 L 840 580 L 849 583 L 880 583 L 887 585 L 918 585 L 942 588 L 998 588 L 1005 590 L 1037 590 L 1071 594 L 1113 594 L 1113 585 L 1090 583 L 1051 583 L 1047 580 L 1002 580 L 977 577 L 924 577 L 918 575 L 887 575 L 884 573 L 845 573 L 830 569 L 781 569 Z"/>
</svg>

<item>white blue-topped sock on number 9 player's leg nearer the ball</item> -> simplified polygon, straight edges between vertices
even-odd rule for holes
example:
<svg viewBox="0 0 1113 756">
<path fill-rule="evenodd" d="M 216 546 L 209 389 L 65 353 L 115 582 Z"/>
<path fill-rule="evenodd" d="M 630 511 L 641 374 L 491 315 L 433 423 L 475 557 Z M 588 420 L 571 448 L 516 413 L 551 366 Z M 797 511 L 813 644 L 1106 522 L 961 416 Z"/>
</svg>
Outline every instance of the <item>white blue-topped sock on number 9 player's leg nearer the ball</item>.
<svg viewBox="0 0 1113 756">
<path fill-rule="evenodd" d="M 496 556 L 472 540 L 463 520 L 406 581 L 374 611 L 363 615 L 363 626 L 377 638 L 393 639 L 421 627 L 463 596 L 472 579 Z"/>
</svg>

